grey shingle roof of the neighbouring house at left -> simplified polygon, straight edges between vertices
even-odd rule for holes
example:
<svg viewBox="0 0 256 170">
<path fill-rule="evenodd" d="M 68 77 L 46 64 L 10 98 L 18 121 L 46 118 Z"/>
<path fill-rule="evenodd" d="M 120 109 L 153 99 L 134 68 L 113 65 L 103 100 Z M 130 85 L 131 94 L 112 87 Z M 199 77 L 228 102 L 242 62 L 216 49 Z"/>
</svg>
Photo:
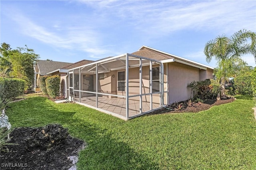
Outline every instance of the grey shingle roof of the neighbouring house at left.
<svg viewBox="0 0 256 170">
<path fill-rule="evenodd" d="M 66 67 L 72 63 L 59 62 L 59 61 L 48 61 L 48 60 L 38 60 L 37 65 L 40 75 L 48 75 L 50 71 Z"/>
</svg>

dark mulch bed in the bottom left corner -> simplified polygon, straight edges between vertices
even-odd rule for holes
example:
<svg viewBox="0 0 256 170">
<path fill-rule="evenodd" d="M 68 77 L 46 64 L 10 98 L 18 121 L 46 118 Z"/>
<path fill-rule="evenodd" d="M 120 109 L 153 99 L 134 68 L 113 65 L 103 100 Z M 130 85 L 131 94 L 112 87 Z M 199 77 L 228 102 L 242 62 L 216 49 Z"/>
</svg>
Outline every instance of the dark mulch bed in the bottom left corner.
<svg viewBox="0 0 256 170">
<path fill-rule="evenodd" d="M 55 127 L 58 128 L 58 126 Z M 36 131 L 42 131 L 42 127 L 14 129 L 10 134 L 12 137 L 10 142 L 18 145 L 8 145 L 9 152 L 1 152 L 1 170 L 68 170 L 73 164 L 67 157 L 78 155 L 79 150 L 84 147 L 82 140 L 73 138 L 68 134 L 65 139 L 62 138 L 57 144 L 53 144 L 49 148 L 40 147 L 38 143 L 34 145 L 34 148 L 30 148 L 28 147 L 28 140 L 36 138 L 33 136 Z M 56 135 L 53 136 L 56 137 Z M 45 144 L 48 144 L 46 140 L 41 139 L 40 141 L 45 141 Z"/>
</svg>

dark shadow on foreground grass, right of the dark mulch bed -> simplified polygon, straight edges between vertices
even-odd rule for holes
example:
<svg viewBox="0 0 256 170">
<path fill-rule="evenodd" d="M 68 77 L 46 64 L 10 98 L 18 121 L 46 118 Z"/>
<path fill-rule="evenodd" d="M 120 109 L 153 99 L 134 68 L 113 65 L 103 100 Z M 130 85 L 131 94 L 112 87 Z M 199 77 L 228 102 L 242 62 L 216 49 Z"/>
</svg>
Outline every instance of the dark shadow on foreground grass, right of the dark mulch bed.
<svg viewBox="0 0 256 170">
<path fill-rule="evenodd" d="M 79 169 L 159 169 L 158 164 L 113 137 L 107 129 L 81 119 L 70 119 L 69 122 L 71 134 L 74 132 L 88 144 L 79 154 Z"/>
</svg>

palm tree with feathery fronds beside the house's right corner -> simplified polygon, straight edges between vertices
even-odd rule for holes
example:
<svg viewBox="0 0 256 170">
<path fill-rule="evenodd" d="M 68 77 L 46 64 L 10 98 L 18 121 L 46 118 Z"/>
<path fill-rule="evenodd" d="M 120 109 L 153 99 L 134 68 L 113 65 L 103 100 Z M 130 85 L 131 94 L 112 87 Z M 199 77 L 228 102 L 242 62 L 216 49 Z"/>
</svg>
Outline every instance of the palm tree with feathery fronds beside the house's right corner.
<svg viewBox="0 0 256 170">
<path fill-rule="evenodd" d="M 204 54 L 208 63 L 210 63 L 212 57 L 217 61 L 214 73 L 216 74 L 217 81 L 221 84 L 221 96 L 226 97 L 226 81 L 246 65 L 242 55 L 252 54 L 256 61 L 256 33 L 240 30 L 230 38 L 218 36 L 206 43 Z"/>
</svg>

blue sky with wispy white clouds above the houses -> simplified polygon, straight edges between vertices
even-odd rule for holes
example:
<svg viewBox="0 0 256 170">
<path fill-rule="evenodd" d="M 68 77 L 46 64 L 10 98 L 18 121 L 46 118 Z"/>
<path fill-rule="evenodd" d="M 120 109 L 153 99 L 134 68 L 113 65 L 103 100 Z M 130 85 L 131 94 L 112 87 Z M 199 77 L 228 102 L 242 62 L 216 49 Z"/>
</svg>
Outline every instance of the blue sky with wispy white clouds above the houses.
<svg viewBox="0 0 256 170">
<path fill-rule="evenodd" d="M 206 42 L 256 32 L 255 0 L 1 0 L 0 11 L 1 43 L 71 63 L 146 45 L 215 67 L 216 61 L 206 62 Z M 256 66 L 252 55 L 243 59 Z"/>
</svg>

